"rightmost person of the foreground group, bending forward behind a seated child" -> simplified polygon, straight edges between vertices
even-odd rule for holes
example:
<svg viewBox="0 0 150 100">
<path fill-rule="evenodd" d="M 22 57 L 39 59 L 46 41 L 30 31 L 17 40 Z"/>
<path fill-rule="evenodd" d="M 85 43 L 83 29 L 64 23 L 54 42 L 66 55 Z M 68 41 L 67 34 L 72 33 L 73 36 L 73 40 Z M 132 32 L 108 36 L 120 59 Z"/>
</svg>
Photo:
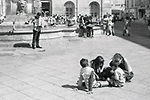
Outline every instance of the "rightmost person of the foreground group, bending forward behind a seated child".
<svg viewBox="0 0 150 100">
<path fill-rule="evenodd" d="M 112 57 L 112 63 L 118 64 L 118 66 L 124 71 L 125 78 L 127 82 L 130 82 L 134 76 L 131 66 L 129 65 L 127 59 L 123 57 L 120 53 L 116 53 Z"/>
</svg>

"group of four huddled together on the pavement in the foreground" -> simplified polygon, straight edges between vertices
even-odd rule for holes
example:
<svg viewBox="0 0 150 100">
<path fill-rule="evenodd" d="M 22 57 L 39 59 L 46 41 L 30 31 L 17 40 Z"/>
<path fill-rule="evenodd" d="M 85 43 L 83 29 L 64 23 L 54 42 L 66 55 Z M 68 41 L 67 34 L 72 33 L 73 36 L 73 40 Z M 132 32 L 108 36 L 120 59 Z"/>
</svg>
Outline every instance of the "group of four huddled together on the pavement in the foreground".
<svg viewBox="0 0 150 100">
<path fill-rule="evenodd" d="M 85 89 L 89 94 L 92 94 L 93 88 L 97 87 L 123 87 L 134 76 L 127 59 L 120 53 L 114 54 L 109 67 L 103 67 L 104 58 L 102 56 L 97 56 L 90 61 L 90 64 L 87 59 L 82 58 L 80 65 L 82 68 L 77 88 Z"/>
</svg>

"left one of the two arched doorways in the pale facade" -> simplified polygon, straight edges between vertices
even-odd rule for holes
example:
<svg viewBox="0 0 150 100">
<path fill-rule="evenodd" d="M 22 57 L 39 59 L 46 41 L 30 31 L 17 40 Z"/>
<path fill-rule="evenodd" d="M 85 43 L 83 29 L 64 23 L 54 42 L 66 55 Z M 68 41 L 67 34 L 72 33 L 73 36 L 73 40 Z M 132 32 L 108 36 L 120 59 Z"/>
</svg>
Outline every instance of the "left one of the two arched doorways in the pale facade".
<svg viewBox="0 0 150 100">
<path fill-rule="evenodd" d="M 71 1 L 67 1 L 65 4 L 65 14 L 68 17 L 75 16 L 75 4 Z"/>
</svg>

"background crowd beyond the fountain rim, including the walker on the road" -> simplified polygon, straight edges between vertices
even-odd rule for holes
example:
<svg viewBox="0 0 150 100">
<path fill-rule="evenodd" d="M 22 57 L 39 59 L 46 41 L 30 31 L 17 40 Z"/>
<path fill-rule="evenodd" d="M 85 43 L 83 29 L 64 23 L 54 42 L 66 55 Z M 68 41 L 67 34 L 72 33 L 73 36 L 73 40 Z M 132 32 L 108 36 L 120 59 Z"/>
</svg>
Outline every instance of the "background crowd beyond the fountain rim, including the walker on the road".
<svg viewBox="0 0 150 100">
<path fill-rule="evenodd" d="M 106 13 L 102 18 L 97 18 L 96 21 L 93 21 L 92 16 L 90 15 L 81 15 L 78 16 L 66 16 L 66 15 L 58 15 L 54 14 L 52 16 L 43 17 L 47 25 L 49 26 L 57 26 L 57 25 L 66 25 L 68 27 L 71 27 L 73 25 L 77 25 L 79 28 L 79 37 L 93 37 L 94 36 L 94 30 L 93 27 L 95 25 L 99 25 L 103 32 L 102 34 L 107 36 L 114 36 L 115 35 L 115 29 L 114 25 L 115 22 L 118 21 L 118 16 L 115 14 L 109 14 Z M 131 28 L 131 21 L 132 16 L 127 15 L 123 16 L 122 21 L 124 21 L 124 29 L 123 29 L 123 35 L 129 34 L 129 29 Z"/>
</svg>

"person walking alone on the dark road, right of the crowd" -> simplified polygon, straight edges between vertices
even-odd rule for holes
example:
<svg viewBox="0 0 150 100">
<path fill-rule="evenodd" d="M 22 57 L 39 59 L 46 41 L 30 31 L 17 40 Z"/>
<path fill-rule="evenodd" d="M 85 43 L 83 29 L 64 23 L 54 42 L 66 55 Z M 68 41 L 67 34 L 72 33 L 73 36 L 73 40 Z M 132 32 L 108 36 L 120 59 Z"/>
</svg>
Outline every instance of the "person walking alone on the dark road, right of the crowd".
<svg viewBox="0 0 150 100">
<path fill-rule="evenodd" d="M 124 25 L 124 29 L 123 29 L 123 36 L 128 35 L 129 34 L 129 28 L 130 28 L 130 22 L 129 22 L 130 18 L 128 16 L 125 17 L 125 25 Z"/>
</svg>

